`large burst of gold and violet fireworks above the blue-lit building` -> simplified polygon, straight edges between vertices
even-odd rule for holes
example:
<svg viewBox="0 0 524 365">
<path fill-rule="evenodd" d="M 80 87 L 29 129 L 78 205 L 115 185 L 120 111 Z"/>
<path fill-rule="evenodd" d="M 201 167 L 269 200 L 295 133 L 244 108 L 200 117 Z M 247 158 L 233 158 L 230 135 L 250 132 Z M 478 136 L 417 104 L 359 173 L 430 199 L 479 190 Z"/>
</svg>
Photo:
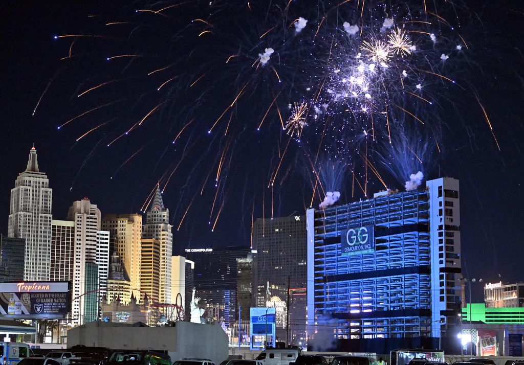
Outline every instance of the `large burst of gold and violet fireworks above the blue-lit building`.
<svg viewBox="0 0 524 365">
<path fill-rule="evenodd" d="M 297 154 L 305 154 L 304 161 L 312 167 L 307 176 L 312 197 L 332 190 L 321 181 L 325 179 L 322 174 L 339 167 L 351 170 L 352 185 L 360 186 L 364 194 L 368 180 L 386 185 L 377 165 L 392 159 L 390 154 L 399 160 L 394 164 L 411 164 L 402 172 L 385 166 L 399 181 L 406 181 L 409 175 L 400 174 L 429 159 L 420 153 L 423 142 L 402 136 L 415 131 L 431 135 L 431 144 L 439 146 L 442 121 L 430 106 L 440 106 L 448 89 L 460 89 L 454 81 L 454 71 L 461 67 L 457 53 L 462 56 L 470 47 L 444 15 L 446 8 L 449 14 L 457 13 L 455 5 L 439 3 L 436 8 L 425 1 L 422 5 L 372 0 L 319 5 L 322 7 L 291 1 L 243 6 L 175 1 L 137 10 L 129 21 L 118 22 L 118 28 L 128 27 L 129 36 L 123 49 L 110 49 L 110 54 L 118 56 L 109 57 L 111 65 L 104 66 L 121 68 L 115 73 L 117 79 L 86 86 L 79 94 L 123 94 L 119 101 L 129 99 L 133 107 L 122 112 L 117 102 L 90 106 L 61 127 L 79 119 L 96 120 L 111 109 L 108 112 L 122 113 L 118 119 L 121 128 L 108 131 L 105 125 L 85 123 L 82 137 L 100 133 L 112 140 L 111 145 L 132 132 L 146 134 L 158 128 L 160 140 L 177 142 L 177 146 L 185 142 L 189 148 L 174 146 L 171 156 L 165 149 L 170 161 L 160 181 L 164 187 L 177 184 L 184 176 L 175 172 L 183 175 L 182 167 L 198 161 L 202 171 L 192 168 L 190 175 L 198 182 L 195 185 L 201 195 L 214 180 L 216 191 L 208 197 L 213 229 L 231 196 L 226 191 L 228 179 L 234 180 L 235 174 L 249 176 L 243 167 L 252 166 L 253 160 L 247 156 L 256 156 L 257 164 L 249 178 L 271 188 L 271 194 L 264 190 L 261 202 L 253 203 L 253 212 L 255 204 L 264 212 L 269 199 L 271 216 L 275 212 L 274 183 L 282 171 L 286 172 L 279 186 L 290 179 Z M 74 37 L 77 42 L 125 39 L 105 35 L 57 38 L 62 37 Z M 461 50 L 462 45 L 465 49 Z M 491 129 L 478 98 L 477 102 Z M 136 115 L 145 116 L 140 120 Z M 148 123 L 137 131 L 146 119 Z M 428 120 L 431 123 L 423 123 Z M 205 139 L 209 134 L 212 139 Z M 228 141 L 213 136 L 227 136 Z M 407 143 L 406 148 L 401 148 L 402 143 Z M 322 160 L 326 156 L 330 162 Z M 409 159 L 413 156 L 416 163 Z M 343 187 L 343 176 L 333 179 L 342 181 Z M 191 189 L 187 182 L 180 185 Z M 197 195 L 182 194 L 189 201 L 178 217 L 179 228 Z"/>
</svg>

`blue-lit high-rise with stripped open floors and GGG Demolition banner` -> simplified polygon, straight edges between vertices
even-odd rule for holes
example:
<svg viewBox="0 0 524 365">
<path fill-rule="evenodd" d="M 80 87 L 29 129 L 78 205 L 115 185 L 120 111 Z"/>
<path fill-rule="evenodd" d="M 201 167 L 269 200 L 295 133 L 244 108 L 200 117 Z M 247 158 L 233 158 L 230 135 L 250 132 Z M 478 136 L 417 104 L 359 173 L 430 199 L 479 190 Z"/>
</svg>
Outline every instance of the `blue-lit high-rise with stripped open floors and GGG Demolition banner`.
<svg viewBox="0 0 524 365">
<path fill-rule="evenodd" d="M 307 229 L 308 344 L 388 353 L 456 342 L 459 181 L 309 209 Z"/>
</svg>

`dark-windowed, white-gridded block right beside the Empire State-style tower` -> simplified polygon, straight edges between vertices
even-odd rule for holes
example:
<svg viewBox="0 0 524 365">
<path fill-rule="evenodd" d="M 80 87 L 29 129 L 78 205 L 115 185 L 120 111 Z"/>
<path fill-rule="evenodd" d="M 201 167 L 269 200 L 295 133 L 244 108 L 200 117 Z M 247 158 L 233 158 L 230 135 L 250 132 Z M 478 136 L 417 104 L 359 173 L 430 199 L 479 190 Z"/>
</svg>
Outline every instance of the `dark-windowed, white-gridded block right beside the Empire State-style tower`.
<svg viewBox="0 0 524 365">
<path fill-rule="evenodd" d="M 51 222 L 51 281 L 73 281 L 74 278 L 74 227 L 70 220 Z"/>
</svg>

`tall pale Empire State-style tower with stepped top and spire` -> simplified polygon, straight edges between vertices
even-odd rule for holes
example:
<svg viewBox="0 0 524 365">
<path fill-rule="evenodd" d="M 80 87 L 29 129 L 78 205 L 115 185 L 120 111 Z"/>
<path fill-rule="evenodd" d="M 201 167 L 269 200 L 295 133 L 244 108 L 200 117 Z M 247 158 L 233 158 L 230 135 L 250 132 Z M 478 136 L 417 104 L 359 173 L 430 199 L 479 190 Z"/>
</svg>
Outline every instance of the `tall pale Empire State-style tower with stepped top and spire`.
<svg viewBox="0 0 524 365">
<path fill-rule="evenodd" d="M 7 236 L 25 240 L 24 280 L 49 281 L 52 189 L 38 169 L 36 149 L 11 190 Z"/>
</svg>

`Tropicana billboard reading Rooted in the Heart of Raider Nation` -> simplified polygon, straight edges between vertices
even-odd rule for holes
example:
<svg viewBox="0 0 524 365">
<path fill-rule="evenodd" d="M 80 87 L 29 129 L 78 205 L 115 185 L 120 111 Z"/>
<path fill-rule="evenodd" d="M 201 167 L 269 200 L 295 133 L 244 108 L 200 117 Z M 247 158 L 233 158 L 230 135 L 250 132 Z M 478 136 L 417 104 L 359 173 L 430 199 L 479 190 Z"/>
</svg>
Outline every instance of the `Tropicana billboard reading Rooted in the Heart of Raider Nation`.
<svg viewBox="0 0 524 365">
<path fill-rule="evenodd" d="M 0 313 L 19 319 L 61 319 L 70 312 L 70 282 L 0 283 Z"/>
</svg>

